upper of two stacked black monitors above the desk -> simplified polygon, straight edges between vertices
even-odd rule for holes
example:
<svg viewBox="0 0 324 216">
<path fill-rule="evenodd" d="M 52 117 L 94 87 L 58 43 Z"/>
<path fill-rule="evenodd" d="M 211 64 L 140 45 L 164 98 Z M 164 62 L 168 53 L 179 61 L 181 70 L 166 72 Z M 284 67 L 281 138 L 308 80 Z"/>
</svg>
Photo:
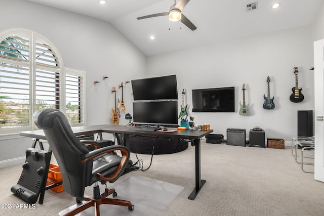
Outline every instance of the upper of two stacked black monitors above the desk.
<svg viewBox="0 0 324 216">
<path fill-rule="evenodd" d="M 178 99 L 176 75 L 131 80 L 134 101 Z"/>
</svg>

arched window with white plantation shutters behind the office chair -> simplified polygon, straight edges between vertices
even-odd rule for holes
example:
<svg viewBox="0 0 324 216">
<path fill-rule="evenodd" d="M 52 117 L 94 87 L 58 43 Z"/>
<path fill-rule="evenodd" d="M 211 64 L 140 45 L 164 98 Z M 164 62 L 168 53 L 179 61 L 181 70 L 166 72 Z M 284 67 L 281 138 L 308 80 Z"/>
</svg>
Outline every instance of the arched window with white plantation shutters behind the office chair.
<svg viewBox="0 0 324 216">
<path fill-rule="evenodd" d="M 85 124 L 85 72 L 62 68 L 58 51 L 28 31 L 0 34 L 0 134 L 36 129 L 32 114 L 55 108 Z"/>
</svg>

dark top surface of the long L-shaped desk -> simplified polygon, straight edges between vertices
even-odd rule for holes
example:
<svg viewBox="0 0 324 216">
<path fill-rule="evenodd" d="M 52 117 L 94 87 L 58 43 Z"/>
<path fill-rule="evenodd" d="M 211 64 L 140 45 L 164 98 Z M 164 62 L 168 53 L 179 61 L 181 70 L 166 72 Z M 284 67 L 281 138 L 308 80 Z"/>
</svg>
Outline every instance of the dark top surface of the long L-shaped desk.
<svg viewBox="0 0 324 216">
<path fill-rule="evenodd" d="M 101 124 L 101 125 L 92 125 L 92 126 L 76 126 L 72 127 L 72 131 L 75 136 L 79 135 L 92 135 L 96 133 L 110 133 L 110 134 L 132 134 L 132 135 L 144 135 L 144 136 L 154 136 L 154 137 L 175 137 L 183 139 L 200 139 L 206 135 L 209 135 L 213 132 L 210 131 L 175 131 L 175 132 L 147 132 L 147 131 L 134 131 L 125 127 L 123 125 L 110 125 L 110 124 Z M 46 137 L 43 133 L 43 130 L 36 131 L 25 131 L 20 132 L 20 136 L 36 138 L 40 140 L 46 140 Z"/>
</svg>

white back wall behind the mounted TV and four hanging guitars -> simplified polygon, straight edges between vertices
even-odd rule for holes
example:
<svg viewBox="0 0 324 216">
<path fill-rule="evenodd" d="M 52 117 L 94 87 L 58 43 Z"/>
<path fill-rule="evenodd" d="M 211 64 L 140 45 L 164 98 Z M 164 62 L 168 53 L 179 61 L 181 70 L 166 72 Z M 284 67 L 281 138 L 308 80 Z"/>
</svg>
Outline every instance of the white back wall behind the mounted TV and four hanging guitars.
<svg viewBox="0 0 324 216">
<path fill-rule="evenodd" d="M 297 136 L 297 110 L 313 110 L 313 41 L 311 26 L 304 26 L 264 35 L 225 41 L 148 58 L 149 76 L 177 74 L 179 109 L 182 89 L 186 89 L 185 103 L 195 116 L 195 124 L 209 123 L 214 134 L 226 129 L 246 128 L 247 138 L 254 126 L 265 129 L 266 137 L 291 141 Z M 298 84 L 305 99 L 301 103 L 289 100 L 295 87 L 294 67 L 299 68 Z M 267 96 L 267 76 L 270 76 L 270 96 L 274 96 L 274 110 L 265 110 L 263 95 Z M 246 83 L 246 103 L 251 115 L 238 114 L 242 101 L 242 84 Z M 235 87 L 234 113 L 191 112 L 191 90 Z M 287 145 L 287 144 L 286 144 Z"/>
</svg>

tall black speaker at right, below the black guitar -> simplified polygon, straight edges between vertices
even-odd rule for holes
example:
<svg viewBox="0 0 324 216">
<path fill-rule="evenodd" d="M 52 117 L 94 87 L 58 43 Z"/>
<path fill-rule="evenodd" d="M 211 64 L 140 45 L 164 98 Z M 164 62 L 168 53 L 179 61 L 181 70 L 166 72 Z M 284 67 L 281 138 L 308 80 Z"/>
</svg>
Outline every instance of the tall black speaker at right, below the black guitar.
<svg viewBox="0 0 324 216">
<path fill-rule="evenodd" d="M 314 136 L 313 110 L 298 110 L 298 137 Z"/>
</svg>

